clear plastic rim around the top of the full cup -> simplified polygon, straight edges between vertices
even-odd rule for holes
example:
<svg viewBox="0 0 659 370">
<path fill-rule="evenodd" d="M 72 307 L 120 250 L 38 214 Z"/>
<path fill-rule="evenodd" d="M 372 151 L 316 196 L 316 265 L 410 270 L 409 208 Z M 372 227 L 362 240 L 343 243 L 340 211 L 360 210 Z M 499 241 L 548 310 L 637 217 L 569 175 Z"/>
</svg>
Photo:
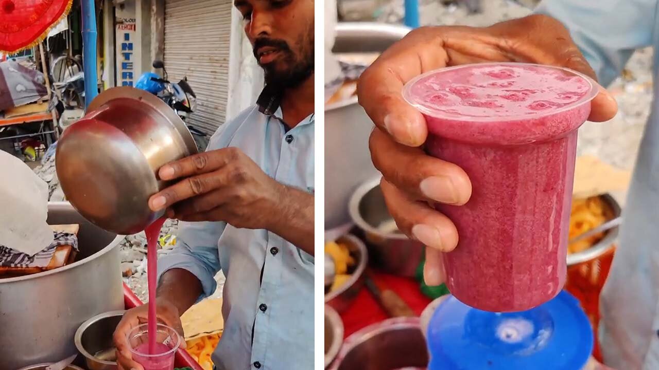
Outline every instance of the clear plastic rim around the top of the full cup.
<svg viewBox="0 0 659 370">
<path fill-rule="evenodd" d="M 455 69 L 461 69 L 461 68 L 473 68 L 474 66 L 532 66 L 532 67 L 540 67 L 540 68 L 547 68 L 547 69 L 554 69 L 554 70 L 562 70 L 563 72 L 567 72 L 569 74 L 573 74 L 577 77 L 582 78 L 588 84 L 590 85 L 590 90 L 581 97 L 578 101 L 575 101 L 573 103 L 570 103 L 568 105 L 565 105 L 564 107 L 561 107 L 559 109 L 556 109 L 554 111 L 550 112 L 537 112 L 537 113 L 530 113 L 527 115 L 519 115 L 519 116 L 501 116 L 501 117 L 459 117 L 459 116 L 451 116 L 451 115 L 446 115 L 442 114 L 442 111 L 439 111 L 437 109 L 432 109 L 432 107 L 429 107 L 424 103 L 423 101 L 419 101 L 419 99 L 416 99 L 412 93 L 412 87 L 415 86 L 415 84 L 422 80 L 423 78 L 426 78 L 428 76 L 432 76 L 433 74 L 441 74 L 444 72 L 447 72 L 449 70 L 455 70 Z M 563 113 L 566 111 L 570 111 L 572 109 L 576 109 L 578 107 L 581 107 L 585 103 L 589 103 L 594 99 L 597 94 L 599 93 L 599 90 L 597 88 L 598 84 L 595 82 L 592 78 L 586 76 L 585 74 L 581 72 L 577 72 L 576 70 L 573 70 L 571 68 L 566 68 L 562 66 L 552 66 L 552 65 L 541 65 L 538 63 L 518 63 L 518 62 L 486 62 L 486 63 L 469 63 L 465 65 L 457 65 L 457 66 L 449 66 L 449 67 L 444 67 L 444 68 L 438 68 L 435 70 L 431 70 L 429 72 L 425 72 L 423 74 L 419 74 L 418 76 L 415 76 L 415 78 L 412 78 L 409 80 L 407 83 L 405 83 L 405 86 L 403 86 L 403 91 L 401 92 L 401 95 L 403 95 L 403 99 L 407 101 L 407 103 L 413 107 L 415 107 L 418 111 L 420 111 L 423 115 L 429 116 L 429 117 L 434 117 L 436 119 L 443 119 L 443 120 L 452 120 L 452 121 L 470 121 L 470 122 L 507 122 L 507 121 L 513 121 L 513 120 L 530 120 L 530 119 L 541 119 L 542 117 L 547 117 L 549 115 L 556 115 L 559 113 Z"/>
</svg>

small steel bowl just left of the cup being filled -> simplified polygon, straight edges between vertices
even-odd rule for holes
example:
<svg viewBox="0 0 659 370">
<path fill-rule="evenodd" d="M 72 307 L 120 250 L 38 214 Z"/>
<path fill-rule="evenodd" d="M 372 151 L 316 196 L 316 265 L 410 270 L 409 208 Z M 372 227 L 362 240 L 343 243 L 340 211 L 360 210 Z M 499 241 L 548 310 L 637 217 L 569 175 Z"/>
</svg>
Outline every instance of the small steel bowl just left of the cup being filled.
<svg viewBox="0 0 659 370">
<path fill-rule="evenodd" d="M 74 340 L 76 348 L 82 356 L 89 370 L 117 370 L 115 361 L 103 361 L 94 357 L 94 354 L 114 346 L 112 336 L 126 311 L 109 311 L 96 315 L 85 321 L 76 330 Z"/>
</svg>

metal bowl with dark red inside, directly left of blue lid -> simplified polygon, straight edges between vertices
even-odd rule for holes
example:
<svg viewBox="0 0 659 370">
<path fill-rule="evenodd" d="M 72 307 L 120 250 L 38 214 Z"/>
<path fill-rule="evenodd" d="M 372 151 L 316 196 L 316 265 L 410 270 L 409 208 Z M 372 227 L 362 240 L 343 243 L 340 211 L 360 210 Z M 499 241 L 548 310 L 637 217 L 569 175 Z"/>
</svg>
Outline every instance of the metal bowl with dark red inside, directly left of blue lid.
<svg viewBox="0 0 659 370">
<path fill-rule="evenodd" d="M 428 350 L 418 317 L 395 317 L 346 338 L 330 369 L 425 369 L 427 366 Z"/>
</svg>

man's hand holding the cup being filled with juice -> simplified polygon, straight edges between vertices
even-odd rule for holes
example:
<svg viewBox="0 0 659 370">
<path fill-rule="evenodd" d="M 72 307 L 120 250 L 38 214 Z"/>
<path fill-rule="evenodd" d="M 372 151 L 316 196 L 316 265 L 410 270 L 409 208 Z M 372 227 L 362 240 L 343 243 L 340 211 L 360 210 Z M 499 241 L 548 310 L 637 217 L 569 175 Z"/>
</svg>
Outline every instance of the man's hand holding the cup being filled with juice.
<svg viewBox="0 0 659 370">
<path fill-rule="evenodd" d="M 148 305 L 140 305 L 133 309 L 129 309 L 124 313 L 115 333 L 113 335 L 113 342 L 117 348 L 117 363 L 120 370 L 143 370 L 144 368 L 133 361 L 132 354 L 130 353 L 130 344 L 128 342 L 128 334 L 130 330 L 139 325 L 146 324 L 149 317 Z M 183 325 L 179 317 L 179 311 L 176 306 L 169 303 L 167 300 L 158 299 L 156 307 L 158 312 L 158 321 L 176 330 L 181 336 L 181 348 L 185 348 L 185 336 L 183 335 Z"/>
</svg>

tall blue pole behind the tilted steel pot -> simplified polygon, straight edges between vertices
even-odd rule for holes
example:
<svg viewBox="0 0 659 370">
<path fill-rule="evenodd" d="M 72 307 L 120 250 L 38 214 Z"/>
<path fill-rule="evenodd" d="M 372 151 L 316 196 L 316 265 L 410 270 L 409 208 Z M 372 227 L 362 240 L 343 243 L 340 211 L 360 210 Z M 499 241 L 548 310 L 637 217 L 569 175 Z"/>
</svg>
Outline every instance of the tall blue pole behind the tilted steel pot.
<svg viewBox="0 0 659 370">
<path fill-rule="evenodd" d="M 96 6 L 94 0 L 81 0 L 82 8 L 82 68 L 84 68 L 84 104 L 89 106 L 98 95 L 96 76 Z"/>
</svg>

